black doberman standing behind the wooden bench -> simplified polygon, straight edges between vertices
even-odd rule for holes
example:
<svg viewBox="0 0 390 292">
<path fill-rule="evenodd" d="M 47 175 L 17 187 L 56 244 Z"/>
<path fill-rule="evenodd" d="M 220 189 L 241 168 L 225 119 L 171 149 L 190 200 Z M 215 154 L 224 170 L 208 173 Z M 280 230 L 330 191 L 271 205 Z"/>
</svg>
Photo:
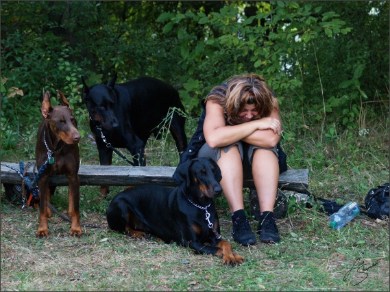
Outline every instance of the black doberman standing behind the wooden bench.
<svg viewBox="0 0 390 292">
<path fill-rule="evenodd" d="M 144 166 L 145 145 L 151 133 L 160 138 L 158 133 L 169 108 L 184 113 L 184 107 L 178 91 L 160 79 L 141 77 L 120 84 L 115 81 L 117 74 L 107 85 L 95 84 L 88 88 L 82 77 L 83 99 L 90 115 L 90 131 L 95 136 L 100 165 L 112 163 L 112 148 L 107 146 L 110 143 L 114 148 L 127 148 L 134 165 Z M 185 122 L 184 116 L 175 110 L 169 130 L 179 152 L 187 146 Z M 108 186 L 101 186 L 100 191 L 101 196 L 106 196 Z"/>
</svg>

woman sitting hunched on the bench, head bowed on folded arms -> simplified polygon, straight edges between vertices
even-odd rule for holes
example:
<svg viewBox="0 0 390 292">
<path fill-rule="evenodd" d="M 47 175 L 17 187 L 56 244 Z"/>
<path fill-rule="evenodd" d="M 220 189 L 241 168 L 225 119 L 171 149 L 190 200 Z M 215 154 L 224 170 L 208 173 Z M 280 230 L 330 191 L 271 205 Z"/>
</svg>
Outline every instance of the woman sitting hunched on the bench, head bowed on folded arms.
<svg viewBox="0 0 390 292">
<path fill-rule="evenodd" d="M 180 163 L 192 157 L 217 161 L 223 194 L 232 212 L 232 235 L 243 245 L 256 243 L 243 204 L 243 180 L 253 177 L 261 212 L 257 228 L 260 241 L 278 242 L 273 206 L 279 174 L 287 170 L 279 145 L 282 124 L 278 99 L 262 77 L 246 74 L 212 88 L 202 106 L 197 131 Z"/>
</svg>

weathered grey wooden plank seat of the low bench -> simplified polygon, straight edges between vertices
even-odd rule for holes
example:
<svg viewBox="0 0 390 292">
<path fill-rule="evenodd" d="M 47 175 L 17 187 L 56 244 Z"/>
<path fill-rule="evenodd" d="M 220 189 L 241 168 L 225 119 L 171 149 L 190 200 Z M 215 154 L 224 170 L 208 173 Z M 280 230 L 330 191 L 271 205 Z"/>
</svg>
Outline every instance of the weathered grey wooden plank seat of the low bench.
<svg viewBox="0 0 390 292">
<path fill-rule="evenodd" d="M 1 162 L 0 183 L 20 185 L 21 176 L 12 168 L 19 169 L 19 163 Z M 117 166 L 117 165 L 80 165 L 80 185 L 165 185 L 175 187 L 172 175 L 175 172 L 172 166 Z M 37 171 L 36 171 L 37 173 Z M 33 179 L 33 167 L 27 169 L 26 174 Z M 68 185 L 69 179 L 64 176 L 50 176 L 51 185 Z M 308 170 L 287 170 L 280 174 L 279 188 L 298 191 L 306 194 L 308 191 Z M 244 181 L 244 187 L 254 187 L 252 180 Z"/>
</svg>

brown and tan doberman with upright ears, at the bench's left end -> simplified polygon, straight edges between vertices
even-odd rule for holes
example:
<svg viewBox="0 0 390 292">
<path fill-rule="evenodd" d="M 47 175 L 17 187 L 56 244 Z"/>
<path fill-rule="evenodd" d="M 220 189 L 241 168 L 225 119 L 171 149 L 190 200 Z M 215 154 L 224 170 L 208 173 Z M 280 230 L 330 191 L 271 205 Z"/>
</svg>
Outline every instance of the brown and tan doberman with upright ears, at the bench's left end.
<svg viewBox="0 0 390 292">
<path fill-rule="evenodd" d="M 79 166 L 80 133 L 77 130 L 77 121 L 64 94 L 57 90 L 58 97 L 64 105 L 53 107 L 50 94 L 47 91 L 41 107 L 42 122 L 36 137 L 36 166 L 38 169 L 45 166 L 46 169 L 38 180 L 39 188 L 39 226 L 36 237 L 49 237 L 48 218 L 51 210 L 46 202 L 50 202 L 49 175 L 66 174 L 69 178 L 68 200 L 69 216 L 71 217 L 70 235 L 79 237 L 82 234 L 80 226 L 80 182 Z"/>
</svg>

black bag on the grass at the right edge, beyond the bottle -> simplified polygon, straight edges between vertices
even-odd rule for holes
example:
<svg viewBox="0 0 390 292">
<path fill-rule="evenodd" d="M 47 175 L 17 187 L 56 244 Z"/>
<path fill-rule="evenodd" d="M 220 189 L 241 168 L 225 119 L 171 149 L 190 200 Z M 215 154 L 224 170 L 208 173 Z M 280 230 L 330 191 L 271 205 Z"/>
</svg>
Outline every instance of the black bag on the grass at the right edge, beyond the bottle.
<svg viewBox="0 0 390 292">
<path fill-rule="evenodd" d="M 365 197 L 367 216 L 385 220 L 389 218 L 389 183 L 370 189 Z"/>
</svg>

